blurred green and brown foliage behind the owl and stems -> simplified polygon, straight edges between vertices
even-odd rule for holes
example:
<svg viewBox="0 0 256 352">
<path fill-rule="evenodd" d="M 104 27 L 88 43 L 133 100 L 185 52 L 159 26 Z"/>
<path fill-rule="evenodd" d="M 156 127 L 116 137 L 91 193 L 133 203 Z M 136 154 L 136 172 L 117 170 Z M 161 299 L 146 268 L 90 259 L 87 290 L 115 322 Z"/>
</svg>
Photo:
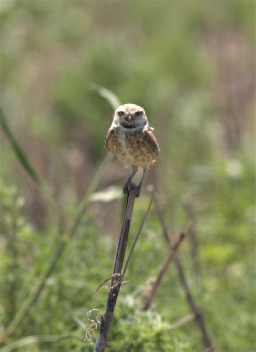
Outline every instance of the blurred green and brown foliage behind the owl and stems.
<svg viewBox="0 0 256 352">
<path fill-rule="evenodd" d="M 61 228 L 71 224 L 106 153 L 113 106 L 96 92 L 98 84 L 121 103 L 143 106 L 155 127 L 160 155 L 148 179 L 164 194 L 160 203 L 170 232 L 186 227 L 184 203 L 191 200 L 199 278 L 189 240 L 181 261 L 216 350 L 254 351 L 254 1 L 0 5 L 1 107 L 17 143 L 55 190 L 65 214 Z M 100 189 L 122 187 L 122 166 L 113 161 L 109 169 Z M 0 335 L 60 236 L 55 205 L 20 165 L 4 133 L 1 178 Z M 143 194 L 135 202 L 131 238 L 147 205 Z M 85 315 L 104 311 L 108 291 L 91 297 L 110 276 L 121 207 L 115 200 L 108 212 L 95 202 L 72 240 L 64 232 L 62 256 L 0 351 L 13 343 L 17 351 L 90 350 L 83 341 Z M 154 307 L 140 311 L 147 280 L 157 275 L 165 250 L 152 207 L 126 274 L 130 283 L 117 300 L 109 351 L 203 350 L 193 321 L 173 328 L 191 313 L 174 266 Z M 33 342 L 22 341 L 31 336 Z"/>
</svg>

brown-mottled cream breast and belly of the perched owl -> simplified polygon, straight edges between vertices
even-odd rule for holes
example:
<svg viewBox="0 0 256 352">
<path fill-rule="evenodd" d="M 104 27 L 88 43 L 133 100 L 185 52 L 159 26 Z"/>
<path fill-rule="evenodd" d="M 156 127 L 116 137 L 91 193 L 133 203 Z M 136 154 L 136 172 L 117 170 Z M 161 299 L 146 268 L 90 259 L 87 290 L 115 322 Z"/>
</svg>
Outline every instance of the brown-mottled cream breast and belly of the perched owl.
<svg viewBox="0 0 256 352">
<path fill-rule="evenodd" d="M 125 166 L 132 165 L 145 168 L 152 164 L 155 157 L 143 140 L 143 131 L 129 131 L 116 127 L 112 134 L 113 152 Z"/>
</svg>

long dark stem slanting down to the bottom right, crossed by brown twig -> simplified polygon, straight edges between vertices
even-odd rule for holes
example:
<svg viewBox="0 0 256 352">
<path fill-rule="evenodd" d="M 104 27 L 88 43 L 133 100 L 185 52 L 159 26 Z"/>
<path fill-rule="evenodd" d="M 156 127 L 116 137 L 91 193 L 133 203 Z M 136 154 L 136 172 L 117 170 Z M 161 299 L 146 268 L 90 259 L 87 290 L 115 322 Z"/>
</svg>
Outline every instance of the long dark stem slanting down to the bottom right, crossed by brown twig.
<svg viewBox="0 0 256 352">
<path fill-rule="evenodd" d="M 156 200 L 156 197 L 154 197 L 154 203 L 155 203 L 155 207 L 158 209 L 157 214 L 161 214 L 160 206 L 158 204 L 158 201 Z M 160 220 L 160 224 L 162 225 L 162 231 L 163 231 L 164 237 L 165 237 L 165 239 L 167 239 L 168 242 L 170 242 L 167 227 L 166 227 L 166 224 L 165 224 L 165 221 L 164 221 L 162 214 L 161 214 L 161 216 L 159 216 L 159 220 Z M 214 345 L 212 344 L 212 342 L 209 338 L 209 335 L 206 331 L 206 327 L 205 327 L 205 323 L 204 323 L 204 319 L 203 319 L 203 314 L 201 313 L 201 310 L 197 306 L 196 302 L 194 301 L 193 295 L 192 295 L 190 288 L 188 286 L 188 283 L 187 283 L 186 276 L 185 276 L 184 271 L 182 269 L 182 266 L 180 264 L 180 260 L 177 257 L 175 258 L 175 265 L 178 269 L 180 281 L 181 281 L 183 288 L 186 292 L 187 302 L 188 302 L 192 312 L 194 313 L 195 321 L 201 331 L 202 342 L 203 342 L 205 348 L 209 352 L 214 352 L 215 348 L 214 348 Z"/>
</svg>

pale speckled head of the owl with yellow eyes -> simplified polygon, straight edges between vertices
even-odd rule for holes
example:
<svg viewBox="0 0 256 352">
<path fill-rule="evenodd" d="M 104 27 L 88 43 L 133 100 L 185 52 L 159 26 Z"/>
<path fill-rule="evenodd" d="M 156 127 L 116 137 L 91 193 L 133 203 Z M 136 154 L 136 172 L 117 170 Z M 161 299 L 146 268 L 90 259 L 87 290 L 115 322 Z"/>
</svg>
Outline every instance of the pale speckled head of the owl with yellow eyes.
<svg viewBox="0 0 256 352">
<path fill-rule="evenodd" d="M 124 104 L 115 111 L 113 124 L 124 128 L 146 127 L 148 120 L 141 106 L 135 104 Z"/>
</svg>

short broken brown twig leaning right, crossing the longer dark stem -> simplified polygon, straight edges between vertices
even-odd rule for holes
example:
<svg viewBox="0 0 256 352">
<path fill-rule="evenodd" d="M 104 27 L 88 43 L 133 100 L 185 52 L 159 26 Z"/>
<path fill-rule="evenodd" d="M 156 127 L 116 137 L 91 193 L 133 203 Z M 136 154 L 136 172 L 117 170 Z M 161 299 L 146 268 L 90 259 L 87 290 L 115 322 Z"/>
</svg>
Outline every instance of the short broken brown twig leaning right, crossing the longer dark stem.
<svg viewBox="0 0 256 352">
<path fill-rule="evenodd" d="M 148 295 L 147 299 L 146 299 L 146 302 L 144 303 L 142 309 L 143 310 L 146 310 L 148 309 L 150 306 L 151 306 L 151 303 L 153 301 L 153 299 L 155 298 L 155 295 L 159 289 L 159 287 L 161 286 L 161 283 L 163 281 L 163 278 L 166 274 L 166 272 L 168 271 L 168 268 L 169 266 L 171 265 L 171 263 L 173 262 L 178 250 L 179 250 L 179 247 L 182 243 L 182 241 L 184 240 L 185 238 L 185 233 L 184 232 L 181 232 L 180 235 L 179 235 L 179 238 L 178 240 L 176 241 L 175 245 L 172 247 L 170 247 L 170 251 L 169 251 L 169 256 L 166 260 L 166 263 L 164 265 L 162 265 L 160 271 L 159 271 L 159 274 L 158 274 L 158 278 L 150 292 L 150 294 Z"/>
</svg>

